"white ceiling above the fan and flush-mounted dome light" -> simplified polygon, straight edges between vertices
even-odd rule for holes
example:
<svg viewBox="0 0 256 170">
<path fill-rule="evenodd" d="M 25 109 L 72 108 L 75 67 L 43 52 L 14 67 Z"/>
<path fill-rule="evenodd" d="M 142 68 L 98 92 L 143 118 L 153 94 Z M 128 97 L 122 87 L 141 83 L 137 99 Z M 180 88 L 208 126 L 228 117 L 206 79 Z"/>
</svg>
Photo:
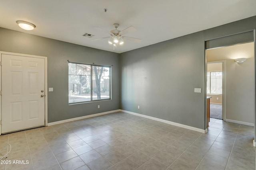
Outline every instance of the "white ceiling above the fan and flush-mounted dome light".
<svg viewBox="0 0 256 170">
<path fill-rule="evenodd" d="M 108 11 L 105 13 L 104 8 Z M 168 39 L 256 16 L 256 0 L 0 0 L 0 27 L 66 41 L 78 45 L 123 53 Z M 18 27 L 16 20 L 36 25 L 32 31 Z M 104 31 L 119 23 L 126 34 L 142 39 L 126 40 L 113 47 Z M 84 33 L 95 35 L 89 39 Z"/>
</svg>

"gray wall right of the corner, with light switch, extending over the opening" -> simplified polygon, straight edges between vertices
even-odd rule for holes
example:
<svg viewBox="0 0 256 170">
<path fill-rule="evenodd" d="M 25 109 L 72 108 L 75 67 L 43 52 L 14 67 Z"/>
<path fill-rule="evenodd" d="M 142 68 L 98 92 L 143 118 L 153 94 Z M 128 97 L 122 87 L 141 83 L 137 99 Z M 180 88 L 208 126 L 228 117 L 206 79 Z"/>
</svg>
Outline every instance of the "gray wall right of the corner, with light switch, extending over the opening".
<svg viewBox="0 0 256 170">
<path fill-rule="evenodd" d="M 122 53 L 121 109 L 205 129 L 204 41 L 255 28 L 254 16 Z"/>
</svg>

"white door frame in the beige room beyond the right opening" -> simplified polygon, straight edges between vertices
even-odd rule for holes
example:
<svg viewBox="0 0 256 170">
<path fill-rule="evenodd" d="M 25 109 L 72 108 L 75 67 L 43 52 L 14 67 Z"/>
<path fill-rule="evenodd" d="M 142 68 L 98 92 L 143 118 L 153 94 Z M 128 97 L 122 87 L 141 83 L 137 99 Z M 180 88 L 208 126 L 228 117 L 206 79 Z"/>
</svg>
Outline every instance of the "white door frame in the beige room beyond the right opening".
<svg viewBox="0 0 256 170">
<path fill-rule="evenodd" d="M 207 62 L 207 64 L 212 63 L 222 63 L 222 119 L 226 121 L 226 60 Z"/>
</svg>

